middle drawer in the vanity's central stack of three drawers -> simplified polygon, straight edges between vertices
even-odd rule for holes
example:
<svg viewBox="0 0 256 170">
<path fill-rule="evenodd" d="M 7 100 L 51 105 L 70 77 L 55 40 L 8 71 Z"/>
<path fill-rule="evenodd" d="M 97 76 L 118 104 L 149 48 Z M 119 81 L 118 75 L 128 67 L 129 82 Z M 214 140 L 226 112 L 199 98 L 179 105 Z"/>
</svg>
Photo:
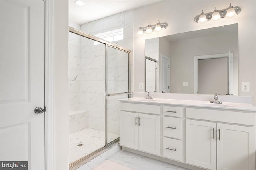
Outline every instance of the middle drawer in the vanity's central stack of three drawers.
<svg viewBox="0 0 256 170">
<path fill-rule="evenodd" d="M 181 139 L 182 120 L 175 117 L 164 117 L 163 121 L 164 136 Z"/>
</svg>

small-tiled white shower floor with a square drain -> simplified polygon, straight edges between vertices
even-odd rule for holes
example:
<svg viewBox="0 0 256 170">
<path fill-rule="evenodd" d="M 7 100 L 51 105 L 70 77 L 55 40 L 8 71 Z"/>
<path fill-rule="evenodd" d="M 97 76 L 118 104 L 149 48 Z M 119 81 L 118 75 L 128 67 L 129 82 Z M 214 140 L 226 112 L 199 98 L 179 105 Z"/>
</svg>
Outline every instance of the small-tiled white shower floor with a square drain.
<svg viewBox="0 0 256 170">
<path fill-rule="evenodd" d="M 108 141 L 117 139 L 119 135 L 108 133 Z M 77 146 L 83 144 L 82 146 Z M 105 146 L 105 132 L 95 129 L 84 129 L 69 134 L 69 163 L 72 163 L 95 150 Z"/>
</svg>

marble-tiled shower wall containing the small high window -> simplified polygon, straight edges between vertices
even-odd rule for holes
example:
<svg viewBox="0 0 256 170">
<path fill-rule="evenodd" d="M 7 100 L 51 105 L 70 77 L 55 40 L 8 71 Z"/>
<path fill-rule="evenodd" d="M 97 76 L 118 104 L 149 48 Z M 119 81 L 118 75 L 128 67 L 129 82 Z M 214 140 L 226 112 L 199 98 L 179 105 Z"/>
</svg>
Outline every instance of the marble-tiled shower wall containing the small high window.
<svg viewBox="0 0 256 170">
<path fill-rule="evenodd" d="M 112 43 L 132 49 L 132 10 L 81 25 L 81 30 L 96 35 L 124 28 L 124 39 Z M 89 128 L 105 130 L 105 46 L 81 39 L 81 109 L 89 111 Z M 128 55 L 108 47 L 108 93 L 128 91 Z M 116 104 L 116 106 L 119 106 Z M 119 134 L 116 108 L 108 110 L 108 132 Z M 113 111 L 113 112 L 112 112 Z M 114 116 L 115 115 L 115 116 Z"/>
</svg>

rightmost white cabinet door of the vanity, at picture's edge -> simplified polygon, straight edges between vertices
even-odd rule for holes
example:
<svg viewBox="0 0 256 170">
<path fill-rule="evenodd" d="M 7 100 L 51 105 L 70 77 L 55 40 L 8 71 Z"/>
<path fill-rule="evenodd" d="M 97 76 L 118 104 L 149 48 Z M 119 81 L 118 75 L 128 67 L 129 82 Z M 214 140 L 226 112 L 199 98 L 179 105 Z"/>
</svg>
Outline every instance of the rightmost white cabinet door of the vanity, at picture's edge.
<svg viewBox="0 0 256 170">
<path fill-rule="evenodd" d="M 217 123 L 218 170 L 255 170 L 253 127 Z"/>
</svg>

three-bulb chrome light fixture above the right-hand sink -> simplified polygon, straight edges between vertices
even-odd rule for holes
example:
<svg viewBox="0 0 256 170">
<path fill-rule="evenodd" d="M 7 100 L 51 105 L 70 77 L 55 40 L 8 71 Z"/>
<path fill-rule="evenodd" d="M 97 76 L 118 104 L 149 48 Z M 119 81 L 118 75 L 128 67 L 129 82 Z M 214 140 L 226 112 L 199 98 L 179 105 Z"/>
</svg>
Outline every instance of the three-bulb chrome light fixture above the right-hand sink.
<svg viewBox="0 0 256 170">
<path fill-rule="evenodd" d="M 202 13 L 200 15 L 197 15 L 194 18 L 194 21 L 198 23 L 198 21 L 200 21 L 200 23 L 205 22 L 205 21 L 209 21 L 209 20 L 218 20 L 219 18 L 224 18 L 224 17 L 232 17 L 234 16 L 234 14 L 239 14 L 241 12 L 241 8 L 239 6 L 230 6 L 226 9 L 223 10 L 217 10 L 215 7 L 215 10 L 213 12 L 208 12 L 208 13 L 204 13 L 202 10 Z M 205 16 L 205 17 L 204 17 Z"/>
</svg>

